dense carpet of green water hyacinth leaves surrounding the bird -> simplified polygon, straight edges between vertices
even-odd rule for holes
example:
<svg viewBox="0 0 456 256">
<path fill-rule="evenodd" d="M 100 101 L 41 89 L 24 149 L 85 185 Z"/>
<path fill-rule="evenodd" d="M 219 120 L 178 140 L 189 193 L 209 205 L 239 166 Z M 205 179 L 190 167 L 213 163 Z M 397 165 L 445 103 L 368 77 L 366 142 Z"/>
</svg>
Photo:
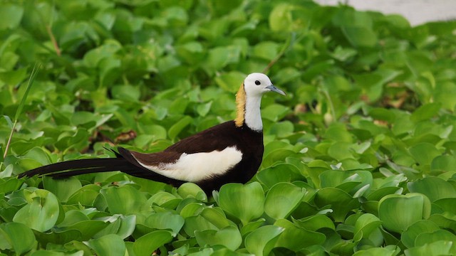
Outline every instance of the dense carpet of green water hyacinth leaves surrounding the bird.
<svg viewBox="0 0 456 256">
<path fill-rule="evenodd" d="M 456 255 L 455 21 L 293 0 L 4 0 L 0 16 L 1 255 Z M 232 119 L 262 70 L 288 97 L 264 97 L 246 185 L 16 178 L 160 151 Z"/>
</svg>

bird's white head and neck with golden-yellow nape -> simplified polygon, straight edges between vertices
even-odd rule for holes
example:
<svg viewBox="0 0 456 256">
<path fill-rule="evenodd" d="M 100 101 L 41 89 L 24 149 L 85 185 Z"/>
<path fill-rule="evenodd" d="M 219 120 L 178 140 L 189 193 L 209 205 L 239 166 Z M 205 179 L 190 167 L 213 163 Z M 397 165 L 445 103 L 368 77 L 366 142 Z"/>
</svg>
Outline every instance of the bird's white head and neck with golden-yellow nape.
<svg viewBox="0 0 456 256">
<path fill-rule="evenodd" d="M 261 96 L 265 92 L 285 95 L 284 91 L 272 84 L 267 75 L 261 73 L 247 75 L 236 95 L 237 117 L 234 122 L 237 127 L 247 124 L 247 127 L 254 131 L 260 132 L 263 129 L 259 107 Z"/>
</svg>

